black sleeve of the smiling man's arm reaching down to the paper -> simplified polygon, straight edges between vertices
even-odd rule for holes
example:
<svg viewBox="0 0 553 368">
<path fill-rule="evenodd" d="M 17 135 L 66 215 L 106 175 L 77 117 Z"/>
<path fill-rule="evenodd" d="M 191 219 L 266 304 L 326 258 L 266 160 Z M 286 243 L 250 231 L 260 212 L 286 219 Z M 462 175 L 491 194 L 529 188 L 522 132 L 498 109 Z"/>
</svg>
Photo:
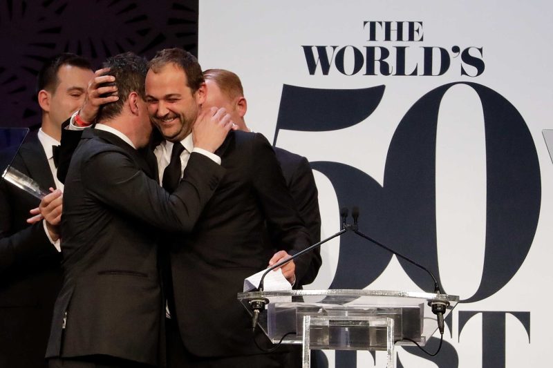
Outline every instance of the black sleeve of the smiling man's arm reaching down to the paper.
<svg viewBox="0 0 553 368">
<path fill-rule="evenodd" d="M 292 255 L 303 251 L 310 246 L 308 230 L 299 217 L 272 147 L 259 133 L 254 137 L 250 159 L 254 188 L 265 213 L 272 244 Z M 306 275 L 311 258 L 309 252 L 294 260 L 298 280 Z"/>
</svg>

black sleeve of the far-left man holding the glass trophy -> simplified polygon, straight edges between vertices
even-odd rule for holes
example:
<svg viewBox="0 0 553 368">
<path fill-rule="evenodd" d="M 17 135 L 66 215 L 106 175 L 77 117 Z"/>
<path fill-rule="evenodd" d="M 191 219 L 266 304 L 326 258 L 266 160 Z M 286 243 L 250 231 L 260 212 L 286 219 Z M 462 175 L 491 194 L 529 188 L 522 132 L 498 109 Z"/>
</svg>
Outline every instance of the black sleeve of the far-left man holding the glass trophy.
<svg viewBox="0 0 553 368">
<path fill-rule="evenodd" d="M 12 211 L 6 183 L 0 183 L 0 274 L 23 264 L 52 255 L 54 246 L 48 240 L 41 222 L 12 233 Z"/>
</svg>

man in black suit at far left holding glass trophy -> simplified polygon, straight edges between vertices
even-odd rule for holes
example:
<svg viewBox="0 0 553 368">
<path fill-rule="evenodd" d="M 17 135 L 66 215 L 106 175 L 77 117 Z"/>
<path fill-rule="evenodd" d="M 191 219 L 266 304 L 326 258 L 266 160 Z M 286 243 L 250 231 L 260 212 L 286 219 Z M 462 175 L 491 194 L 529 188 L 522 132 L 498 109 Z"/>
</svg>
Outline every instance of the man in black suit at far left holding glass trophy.
<svg viewBox="0 0 553 368">
<path fill-rule="evenodd" d="M 53 146 L 61 126 L 84 101 L 93 76 L 86 59 L 62 54 L 37 78 L 41 128 L 30 133 L 12 166 L 44 188 L 46 200 L 61 202 Z M 57 292 L 62 282 L 58 234 L 46 220 L 29 225 L 39 200 L 0 180 L 0 367 L 46 367 L 44 354 Z"/>
</svg>

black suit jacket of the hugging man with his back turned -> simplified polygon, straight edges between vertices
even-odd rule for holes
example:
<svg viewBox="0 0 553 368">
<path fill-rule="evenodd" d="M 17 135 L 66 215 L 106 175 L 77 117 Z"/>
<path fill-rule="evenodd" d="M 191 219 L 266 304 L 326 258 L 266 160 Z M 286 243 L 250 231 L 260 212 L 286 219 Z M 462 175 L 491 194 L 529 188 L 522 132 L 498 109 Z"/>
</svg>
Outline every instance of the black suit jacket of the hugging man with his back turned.
<svg viewBox="0 0 553 368">
<path fill-rule="evenodd" d="M 193 153 L 169 195 L 139 151 L 111 133 L 84 131 L 66 177 L 64 284 L 47 357 L 105 354 L 158 364 L 165 305 L 156 233 L 191 231 L 224 172 Z"/>
</svg>

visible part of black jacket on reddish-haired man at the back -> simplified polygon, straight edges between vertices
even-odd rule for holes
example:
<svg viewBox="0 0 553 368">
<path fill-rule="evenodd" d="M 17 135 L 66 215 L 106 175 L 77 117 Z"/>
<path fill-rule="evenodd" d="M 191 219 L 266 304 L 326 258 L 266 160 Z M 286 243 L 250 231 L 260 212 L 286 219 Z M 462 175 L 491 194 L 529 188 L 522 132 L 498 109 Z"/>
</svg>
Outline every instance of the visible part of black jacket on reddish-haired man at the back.
<svg viewBox="0 0 553 368">
<path fill-rule="evenodd" d="M 319 211 L 319 192 L 317 191 L 315 177 L 313 177 L 313 171 L 311 170 L 311 166 L 309 166 L 308 159 L 279 147 L 274 147 L 274 153 L 277 155 L 286 186 L 288 186 L 290 195 L 292 195 L 299 216 L 309 231 L 312 244 L 320 242 L 321 213 Z M 303 278 L 296 280 L 294 288 L 301 288 L 302 285 L 313 282 L 317 277 L 317 273 L 319 273 L 322 263 L 321 249 L 317 247 L 313 250 L 308 270 L 303 275 Z"/>
</svg>

